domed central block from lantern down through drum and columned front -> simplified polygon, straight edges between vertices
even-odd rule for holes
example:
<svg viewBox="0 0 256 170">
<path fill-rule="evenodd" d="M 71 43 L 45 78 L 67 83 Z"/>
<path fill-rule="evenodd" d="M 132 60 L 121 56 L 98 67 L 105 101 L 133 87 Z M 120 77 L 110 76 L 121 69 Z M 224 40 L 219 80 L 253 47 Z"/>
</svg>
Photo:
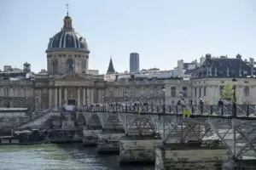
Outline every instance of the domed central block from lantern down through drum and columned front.
<svg viewBox="0 0 256 170">
<path fill-rule="evenodd" d="M 68 13 L 61 31 L 49 38 L 45 52 L 47 74 L 35 76 L 36 109 L 103 102 L 104 76 L 90 74 L 87 42 L 74 31 Z"/>
</svg>

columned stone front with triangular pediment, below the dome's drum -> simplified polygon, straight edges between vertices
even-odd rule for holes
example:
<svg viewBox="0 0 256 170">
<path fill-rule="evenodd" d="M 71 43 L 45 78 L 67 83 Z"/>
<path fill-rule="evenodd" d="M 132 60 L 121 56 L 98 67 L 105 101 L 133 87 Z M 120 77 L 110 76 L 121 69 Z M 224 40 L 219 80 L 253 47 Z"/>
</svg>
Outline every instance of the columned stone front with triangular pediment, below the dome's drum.
<svg viewBox="0 0 256 170">
<path fill-rule="evenodd" d="M 101 76 L 78 74 L 73 71 L 61 77 L 36 76 L 37 109 L 61 105 L 90 105 L 102 103 L 105 82 Z"/>
</svg>

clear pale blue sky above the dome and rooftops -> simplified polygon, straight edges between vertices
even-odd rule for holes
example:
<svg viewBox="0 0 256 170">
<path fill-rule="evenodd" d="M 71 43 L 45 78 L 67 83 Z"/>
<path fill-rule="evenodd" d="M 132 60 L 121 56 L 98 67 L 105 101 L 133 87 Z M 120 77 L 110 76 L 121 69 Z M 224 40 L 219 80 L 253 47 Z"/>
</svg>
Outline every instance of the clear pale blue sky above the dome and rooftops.
<svg viewBox="0 0 256 170">
<path fill-rule="evenodd" d="M 0 69 L 47 68 L 49 38 L 61 31 L 67 14 L 90 50 L 89 69 L 106 73 L 110 56 L 116 71 L 129 71 L 130 53 L 140 69 L 170 70 L 177 59 L 191 62 L 207 53 L 256 57 L 254 0 L 2 0 Z"/>
</svg>

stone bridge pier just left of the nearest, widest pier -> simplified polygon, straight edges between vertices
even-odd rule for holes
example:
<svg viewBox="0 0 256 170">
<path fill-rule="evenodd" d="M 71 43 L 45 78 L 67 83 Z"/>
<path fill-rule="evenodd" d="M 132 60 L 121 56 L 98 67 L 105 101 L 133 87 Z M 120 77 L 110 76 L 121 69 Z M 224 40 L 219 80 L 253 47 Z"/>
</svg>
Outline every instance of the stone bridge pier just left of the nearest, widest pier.
<svg viewBox="0 0 256 170">
<path fill-rule="evenodd" d="M 119 162 L 154 163 L 155 147 L 160 142 L 160 137 L 153 135 L 127 135 L 119 143 Z"/>
</svg>

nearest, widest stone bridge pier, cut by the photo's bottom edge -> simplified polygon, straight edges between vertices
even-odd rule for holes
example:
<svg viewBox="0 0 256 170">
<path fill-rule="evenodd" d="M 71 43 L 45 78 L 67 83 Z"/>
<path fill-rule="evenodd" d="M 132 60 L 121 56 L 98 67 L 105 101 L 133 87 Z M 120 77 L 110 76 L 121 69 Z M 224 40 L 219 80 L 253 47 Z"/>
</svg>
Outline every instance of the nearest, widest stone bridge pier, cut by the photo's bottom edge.
<svg viewBox="0 0 256 170">
<path fill-rule="evenodd" d="M 164 144 L 155 150 L 154 169 L 222 169 L 228 159 L 228 150 L 224 146 Z"/>
</svg>

